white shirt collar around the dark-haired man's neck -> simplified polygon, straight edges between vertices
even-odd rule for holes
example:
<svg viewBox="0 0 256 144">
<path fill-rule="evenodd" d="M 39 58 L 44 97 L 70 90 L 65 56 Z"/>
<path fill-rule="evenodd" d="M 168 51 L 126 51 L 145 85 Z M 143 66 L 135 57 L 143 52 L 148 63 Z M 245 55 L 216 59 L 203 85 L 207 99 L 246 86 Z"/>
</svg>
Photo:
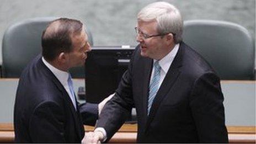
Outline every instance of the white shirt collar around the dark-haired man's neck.
<svg viewBox="0 0 256 144">
<path fill-rule="evenodd" d="M 67 84 L 67 79 L 69 74 L 68 72 L 58 70 L 56 67 L 52 66 L 49 62 L 47 62 L 44 57 L 42 57 L 42 62 L 44 62 L 46 67 L 48 67 L 50 71 L 54 73 L 58 81 L 60 81 L 63 86 Z"/>
</svg>

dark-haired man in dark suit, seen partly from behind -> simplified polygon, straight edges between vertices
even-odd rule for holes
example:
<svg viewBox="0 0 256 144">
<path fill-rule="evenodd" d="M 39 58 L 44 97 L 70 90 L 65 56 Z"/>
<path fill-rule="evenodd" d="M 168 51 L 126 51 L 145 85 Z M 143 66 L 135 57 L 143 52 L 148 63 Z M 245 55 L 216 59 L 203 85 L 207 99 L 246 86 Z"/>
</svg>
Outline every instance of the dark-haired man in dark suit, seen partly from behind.
<svg viewBox="0 0 256 144">
<path fill-rule="evenodd" d="M 28 64 L 19 79 L 15 142 L 81 143 L 83 123 L 93 125 L 100 106 L 77 104 L 68 73 L 84 64 L 91 49 L 85 28 L 78 20 L 60 18 L 47 26 L 41 42 L 42 55 Z"/>
</svg>

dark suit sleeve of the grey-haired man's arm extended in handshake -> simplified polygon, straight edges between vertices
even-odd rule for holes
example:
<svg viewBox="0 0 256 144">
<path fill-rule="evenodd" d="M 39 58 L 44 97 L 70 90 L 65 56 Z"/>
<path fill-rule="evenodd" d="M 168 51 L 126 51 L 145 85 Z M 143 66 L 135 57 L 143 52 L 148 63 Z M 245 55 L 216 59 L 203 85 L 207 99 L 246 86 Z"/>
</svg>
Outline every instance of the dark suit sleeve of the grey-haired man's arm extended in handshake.
<svg viewBox="0 0 256 144">
<path fill-rule="evenodd" d="M 136 52 L 136 50 L 135 50 Z M 134 54 L 135 54 L 134 52 Z M 131 113 L 134 100 L 132 97 L 132 63 L 130 61 L 128 70 L 123 74 L 116 89 L 115 95 L 104 106 L 99 115 L 96 127 L 103 127 L 106 131 L 107 140 L 115 134 L 116 131 L 124 124 L 127 116 Z"/>
</svg>

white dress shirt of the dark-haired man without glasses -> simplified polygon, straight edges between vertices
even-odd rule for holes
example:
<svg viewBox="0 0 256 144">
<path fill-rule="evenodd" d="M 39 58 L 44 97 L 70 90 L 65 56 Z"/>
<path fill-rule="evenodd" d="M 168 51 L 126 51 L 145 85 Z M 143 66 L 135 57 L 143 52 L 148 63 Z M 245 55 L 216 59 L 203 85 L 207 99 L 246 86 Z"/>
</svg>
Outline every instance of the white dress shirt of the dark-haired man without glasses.
<svg viewBox="0 0 256 144">
<path fill-rule="evenodd" d="M 62 86 L 66 89 L 68 95 L 70 96 L 70 99 L 73 103 L 74 109 L 76 108 L 76 99 L 74 98 L 73 94 L 70 91 L 70 87 L 68 87 L 67 79 L 68 79 L 68 72 L 58 70 L 54 66 L 52 66 L 50 63 L 48 63 L 44 57 L 42 57 L 42 62 L 50 69 L 52 73 L 57 77 L 58 81 L 61 82 Z"/>
</svg>

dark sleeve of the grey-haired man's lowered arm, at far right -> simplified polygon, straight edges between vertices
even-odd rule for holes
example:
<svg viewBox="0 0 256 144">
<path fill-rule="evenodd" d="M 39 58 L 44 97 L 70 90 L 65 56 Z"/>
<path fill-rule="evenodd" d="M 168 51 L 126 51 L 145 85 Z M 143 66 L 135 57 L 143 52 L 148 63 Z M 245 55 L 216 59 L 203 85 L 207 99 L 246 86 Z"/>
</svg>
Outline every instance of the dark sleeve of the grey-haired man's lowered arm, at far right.
<svg viewBox="0 0 256 144">
<path fill-rule="evenodd" d="M 206 73 L 194 84 L 190 107 L 200 143 L 227 143 L 220 79 Z"/>
</svg>

